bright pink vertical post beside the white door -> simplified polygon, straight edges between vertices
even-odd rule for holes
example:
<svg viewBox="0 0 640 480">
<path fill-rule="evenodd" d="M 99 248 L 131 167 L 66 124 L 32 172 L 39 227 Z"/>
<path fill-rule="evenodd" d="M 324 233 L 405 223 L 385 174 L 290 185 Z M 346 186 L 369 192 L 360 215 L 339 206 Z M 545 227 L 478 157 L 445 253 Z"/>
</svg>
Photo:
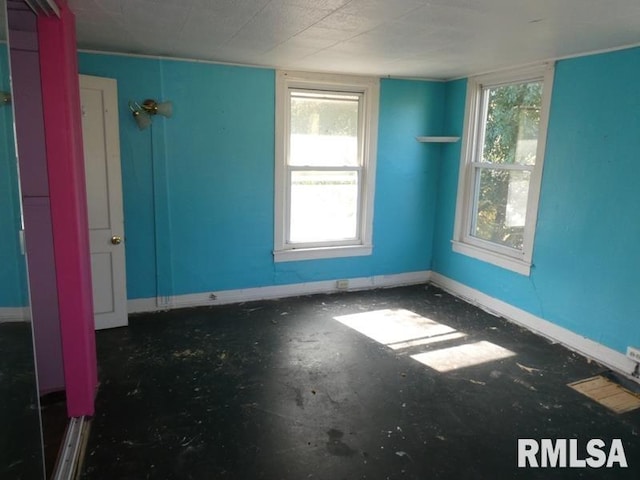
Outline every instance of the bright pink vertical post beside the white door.
<svg viewBox="0 0 640 480">
<path fill-rule="evenodd" d="M 93 415 L 97 364 L 75 17 L 38 17 L 42 101 L 69 416 Z"/>
</svg>

